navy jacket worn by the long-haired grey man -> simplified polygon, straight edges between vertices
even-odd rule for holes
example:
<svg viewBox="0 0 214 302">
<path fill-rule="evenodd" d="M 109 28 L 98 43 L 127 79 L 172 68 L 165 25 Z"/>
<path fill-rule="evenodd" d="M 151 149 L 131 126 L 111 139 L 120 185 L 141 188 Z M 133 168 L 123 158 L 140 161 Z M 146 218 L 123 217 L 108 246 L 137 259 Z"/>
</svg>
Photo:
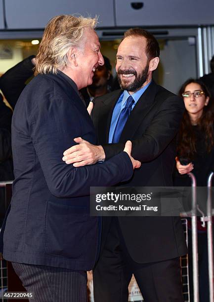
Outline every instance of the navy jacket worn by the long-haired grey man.
<svg viewBox="0 0 214 302">
<path fill-rule="evenodd" d="M 96 144 L 79 95 L 62 75 L 36 76 L 12 118 L 15 181 L 3 234 L 12 262 L 88 270 L 99 249 L 99 220 L 89 216 L 89 187 L 128 180 L 126 152 L 103 164 L 75 168 L 62 161 L 75 137 Z"/>
</svg>

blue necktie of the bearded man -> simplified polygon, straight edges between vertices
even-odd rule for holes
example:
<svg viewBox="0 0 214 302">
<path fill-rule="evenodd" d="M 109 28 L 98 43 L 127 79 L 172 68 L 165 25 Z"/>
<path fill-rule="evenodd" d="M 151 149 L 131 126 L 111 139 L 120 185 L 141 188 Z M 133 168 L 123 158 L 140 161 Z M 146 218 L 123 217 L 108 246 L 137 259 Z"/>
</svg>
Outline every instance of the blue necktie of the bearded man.
<svg viewBox="0 0 214 302">
<path fill-rule="evenodd" d="M 128 119 L 129 114 L 131 113 L 131 107 L 134 104 L 134 100 L 132 98 L 132 96 L 130 95 L 127 99 L 127 103 L 126 106 L 124 107 L 124 109 L 121 111 L 118 121 L 117 121 L 117 125 L 115 127 L 115 132 L 113 135 L 113 139 L 112 139 L 112 143 L 118 143 L 121 137 L 121 133 L 124 129 L 124 126 L 126 124 L 126 121 Z"/>
</svg>

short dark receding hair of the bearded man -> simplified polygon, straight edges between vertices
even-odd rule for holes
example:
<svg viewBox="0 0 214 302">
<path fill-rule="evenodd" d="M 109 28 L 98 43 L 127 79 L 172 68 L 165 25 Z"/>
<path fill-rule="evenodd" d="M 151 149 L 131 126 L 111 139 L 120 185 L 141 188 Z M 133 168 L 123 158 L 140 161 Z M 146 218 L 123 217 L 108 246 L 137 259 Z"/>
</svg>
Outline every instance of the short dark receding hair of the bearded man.
<svg viewBox="0 0 214 302">
<path fill-rule="evenodd" d="M 160 47 L 159 47 L 158 41 L 151 33 L 147 32 L 146 30 L 144 30 L 142 28 L 138 28 L 138 27 L 130 28 L 124 34 L 124 38 L 128 38 L 128 37 L 144 37 L 144 38 L 146 38 L 147 43 L 146 43 L 145 52 L 146 52 L 146 55 L 147 55 L 147 58 L 149 61 L 155 57 L 160 56 Z"/>
</svg>

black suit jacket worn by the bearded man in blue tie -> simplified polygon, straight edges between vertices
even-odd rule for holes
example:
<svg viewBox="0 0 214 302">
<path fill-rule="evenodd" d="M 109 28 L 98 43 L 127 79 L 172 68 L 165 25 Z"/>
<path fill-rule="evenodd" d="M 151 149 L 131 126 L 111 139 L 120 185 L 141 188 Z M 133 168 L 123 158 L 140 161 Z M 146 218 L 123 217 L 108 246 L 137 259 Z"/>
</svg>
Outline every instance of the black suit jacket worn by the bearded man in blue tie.
<svg viewBox="0 0 214 302">
<path fill-rule="evenodd" d="M 142 165 L 122 186 L 172 186 L 175 136 L 184 104 L 181 98 L 154 81 L 131 111 L 118 144 L 107 144 L 114 106 L 122 90 L 94 100 L 92 120 L 106 158 L 118 154 L 127 140 L 132 156 Z M 107 145 L 106 145 L 107 144 Z M 132 259 L 138 263 L 162 261 L 186 254 L 185 238 L 178 217 L 119 217 Z M 103 218 L 103 240 L 109 219 Z"/>
</svg>

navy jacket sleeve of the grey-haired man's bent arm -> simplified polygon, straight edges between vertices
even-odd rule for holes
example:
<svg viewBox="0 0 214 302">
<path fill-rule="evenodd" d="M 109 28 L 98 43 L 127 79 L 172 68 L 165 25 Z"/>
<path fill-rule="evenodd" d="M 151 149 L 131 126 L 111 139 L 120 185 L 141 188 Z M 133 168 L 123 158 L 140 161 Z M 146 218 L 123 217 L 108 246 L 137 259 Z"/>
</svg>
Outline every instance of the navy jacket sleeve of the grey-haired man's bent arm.
<svg viewBox="0 0 214 302">
<path fill-rule="evenodd" d="M 84 196 L 89 194 L 90 186 L 113 186 L 132 176 L 132 163 L 126 152 L 105 163 L 78 168 L 62 161 L 63 151 L 76 144 L 75 137 L 83 135 L 84 124 L 84 115 L 65 100 L 52 98 L 43 102 L 31 118 L 33 145 L 53 195 Z"/>
</svg>

